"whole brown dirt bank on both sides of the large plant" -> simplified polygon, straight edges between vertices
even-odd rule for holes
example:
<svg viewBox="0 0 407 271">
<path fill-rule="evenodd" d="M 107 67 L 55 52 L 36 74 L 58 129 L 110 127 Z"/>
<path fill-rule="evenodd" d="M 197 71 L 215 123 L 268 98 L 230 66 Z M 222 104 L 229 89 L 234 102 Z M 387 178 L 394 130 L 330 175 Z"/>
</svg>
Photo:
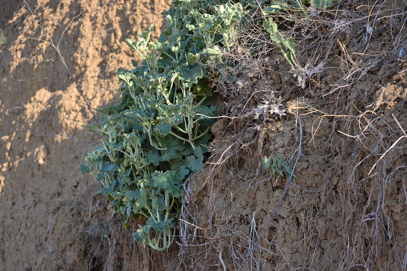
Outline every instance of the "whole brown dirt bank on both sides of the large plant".
<svg viewBox="0 0 407 271">
<path fill-rule="evenodd" d="M 47 41 L 66 28 L 61 54 L 101 107 L 136 58 L 124 39 L 151 23 L 157 37 L 168 1 L 28 2 L 50 37 L 2 1 L 0 270 L 407 270 L 407 4 L 343 2 L 285 29 L 304 87 L 273 46 L 254 61 L 236 49 L 236 81 L 215 82 L 229 118 L 186 182 L 177 245 L 158 253 L 80 174 L 98 135 Z M 256 112 L 265 101 L 286 115 Z M 297 178 L 265 169 L 276 155 Z"/>
</svg>

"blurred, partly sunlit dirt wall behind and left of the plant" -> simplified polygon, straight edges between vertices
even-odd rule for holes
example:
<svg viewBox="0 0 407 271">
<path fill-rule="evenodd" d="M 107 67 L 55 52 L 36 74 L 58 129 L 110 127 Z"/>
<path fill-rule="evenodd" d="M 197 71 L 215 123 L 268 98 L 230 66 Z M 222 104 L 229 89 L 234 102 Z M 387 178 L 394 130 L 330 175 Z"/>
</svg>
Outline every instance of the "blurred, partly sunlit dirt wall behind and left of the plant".
<svg viewBox="0 0 407 271">
<path fill-rule="evenodd" d="M 124 40 L 152 23 L 157 37 L 169 1 L 29 1 L 49 37 L 20 1 L 0 4 L 0 270 L 88 270 L 98 186 L 78 165 L 98 137 L 81 127 L 93 117 L 49 42 L 61 41 L 89 106 L 104 106 L 135 57 Z"/>
</svg>

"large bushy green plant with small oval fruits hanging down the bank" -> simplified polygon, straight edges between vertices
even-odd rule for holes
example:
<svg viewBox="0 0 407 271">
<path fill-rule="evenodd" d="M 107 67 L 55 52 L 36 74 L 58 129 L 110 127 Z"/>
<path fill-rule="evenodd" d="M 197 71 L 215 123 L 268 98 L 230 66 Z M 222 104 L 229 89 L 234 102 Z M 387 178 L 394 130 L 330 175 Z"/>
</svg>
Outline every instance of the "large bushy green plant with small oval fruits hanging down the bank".
<svg viewBox="0 0 407 271">
<path fill-rule="evenodd" d="M 175 0 L 156 41 L 153 26 L 138 41 L 127 39 L 143 61 L 118 69 L 121 100 L 96 109 L 99 121 L 85 126 L 103 139 L 81 172 L 101 183 L 98 192 L 124 215 L 126 228 L 131 217 L 147 218 L 133 237 L 157 250 L 174 241 L 184 181 L 201 169 L 212 137 L 217 108 L 208 106 L 214 95 L 205 63 L 234 43 L 229 34 L 243 12 L 240 4 L 210 4 Z"/>
</svg>

